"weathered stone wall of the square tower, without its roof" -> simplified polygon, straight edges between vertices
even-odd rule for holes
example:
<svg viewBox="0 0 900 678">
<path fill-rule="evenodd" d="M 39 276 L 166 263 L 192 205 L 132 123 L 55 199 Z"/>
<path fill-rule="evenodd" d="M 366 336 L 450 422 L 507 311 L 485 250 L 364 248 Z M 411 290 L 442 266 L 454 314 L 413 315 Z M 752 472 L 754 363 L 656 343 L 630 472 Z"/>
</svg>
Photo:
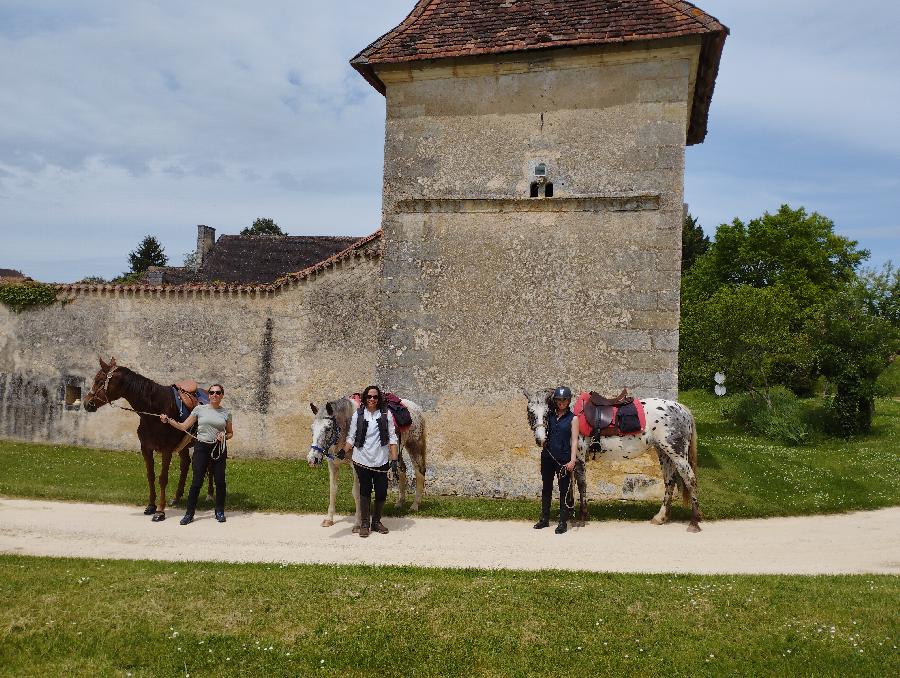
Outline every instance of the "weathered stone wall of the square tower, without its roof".
<svg viewBox="0 0 900 678">
<path fill-rule="evenodd" d="M 676 396 L 698 55 L 687 39 L 377 69 L 379 377 L 430 410 L 429 463 L 451 486 L 533 493 L 523 387 Z M 529 197 L 541 163 L 552 198 Z M 655 455 L 589 471 L 604 497 L 659 495 L 659 475 Z"/>
</svg>

